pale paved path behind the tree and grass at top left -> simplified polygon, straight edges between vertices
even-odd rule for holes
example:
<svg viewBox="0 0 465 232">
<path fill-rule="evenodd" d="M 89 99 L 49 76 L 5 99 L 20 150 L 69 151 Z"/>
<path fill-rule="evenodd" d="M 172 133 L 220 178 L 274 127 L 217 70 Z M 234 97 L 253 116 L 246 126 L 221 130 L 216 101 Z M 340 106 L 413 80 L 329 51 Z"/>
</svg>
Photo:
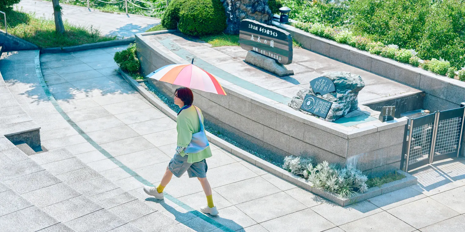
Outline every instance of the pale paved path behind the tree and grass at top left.
<svg viewBox="0 0 465 232">
<path fill-rule="evenodd" d="M 52 1 L 21 0 L 17 6 L 26 12 L 35 12 L 36 16 L 53 18 Z M 81 26 L 93 26 L 100 29 L 102 35 L 117 36 L 118 39 L 134 37 L 135 33 L 145 32 L 161 21 L 134 14 L 105 13 L 81 6 L 60 6 L 63 7 L 63 20 Z"/>
</svg>

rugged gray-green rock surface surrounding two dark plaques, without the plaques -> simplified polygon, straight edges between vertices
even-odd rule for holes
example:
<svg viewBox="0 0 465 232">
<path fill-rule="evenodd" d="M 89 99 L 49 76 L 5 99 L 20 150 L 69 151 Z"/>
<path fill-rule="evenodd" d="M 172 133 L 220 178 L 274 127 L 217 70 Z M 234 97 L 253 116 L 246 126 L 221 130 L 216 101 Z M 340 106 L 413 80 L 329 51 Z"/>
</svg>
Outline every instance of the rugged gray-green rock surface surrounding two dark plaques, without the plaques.
<svg viewBox="0 0 465 232">
<path fill-rule="evenodd" d="M 365 82 L 362 80 L 362 77 L 356 74 L 351 74 L 350 72 L 326 72 L 320 77 L 328 77 L 332 80 L 336 87 L 336 92 L 327 93 L 321 96 L 319 94 L 315 94 L 312 90 L 312 86 L 310 86 L 308 89 L 299 90 L 288 105 L 294 110 L 299 110 L 304 114 L 312 115 L 307 111 L 299 109 L 305 96 L 310 94 L 312 96 L 323 98 L 326 101 L 332 102 L 331 109 L 329 110 L 326 119 L 321 118 L 328 122 L 334 122 L 352 110 L 357 109 L 359 104 L 357 96 L 359 95 L 359 91 L 365 87 Z"/>
</svg>

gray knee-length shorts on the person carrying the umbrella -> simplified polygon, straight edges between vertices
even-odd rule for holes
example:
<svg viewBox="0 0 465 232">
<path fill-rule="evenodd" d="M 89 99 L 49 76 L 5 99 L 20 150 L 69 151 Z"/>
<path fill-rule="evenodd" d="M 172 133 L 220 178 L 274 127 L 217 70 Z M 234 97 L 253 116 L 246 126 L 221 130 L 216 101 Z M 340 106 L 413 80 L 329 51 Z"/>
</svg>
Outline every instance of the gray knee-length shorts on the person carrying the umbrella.
<svg viewBox="0 0 465 232">
<path fill-rule="evenodd" d="M 171 159 L 170 163 L 168 164 L 168 168 L 176 177 L 181 177 L 186 171 L 189 175 L 189 178 L 192 177 L 199 177 L 205 178 L 206 177 L 206 170 L 208 166 L 206 165 L 206 161 L 199 161 L 196 163 L 188 163 L 187 162 L 188 155 L 174 155 L 173 159 Z"/>
</svg>

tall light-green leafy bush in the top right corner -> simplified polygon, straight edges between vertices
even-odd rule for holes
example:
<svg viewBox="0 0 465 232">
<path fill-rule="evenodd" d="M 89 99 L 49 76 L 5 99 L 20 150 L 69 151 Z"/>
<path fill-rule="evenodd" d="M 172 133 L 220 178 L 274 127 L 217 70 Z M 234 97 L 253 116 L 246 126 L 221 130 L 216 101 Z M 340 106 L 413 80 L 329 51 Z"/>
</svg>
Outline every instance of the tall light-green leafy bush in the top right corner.
<svg viewBox="0 0 465 232">
<path fill-rule="evenodd" d="M 357 34 L 465 66 L 465 0 L 352 0 L 349 9 Z"/>
</svg>

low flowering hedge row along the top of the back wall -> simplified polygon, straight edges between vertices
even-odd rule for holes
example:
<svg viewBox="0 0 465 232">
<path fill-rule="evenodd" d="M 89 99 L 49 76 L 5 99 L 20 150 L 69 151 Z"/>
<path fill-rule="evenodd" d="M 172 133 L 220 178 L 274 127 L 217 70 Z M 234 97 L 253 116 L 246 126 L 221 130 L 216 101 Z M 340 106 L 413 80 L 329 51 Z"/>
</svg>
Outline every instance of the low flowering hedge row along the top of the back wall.
<svg viewBox="0 0 465 232">
<path fill-rule="evenodd" d="M 423 63 L 420 63 L 420 58 L 413 49 L 399 49 L 398 45 L 385 45 L 381 42 L 374 42 L 372 39 L 363 36 L 354 36 L 354 33 L 349 30 L 335 29 L 321 23 L 297 22 L 292 23 L 292 26 L 326 39 L 332 39 L 342 44 L 351 45 L 375 55 L 391 58 L 399 62 L 411 64 L 415 67 L 420 66 L 425 70 L 432 71 L 439 75 L 447 75 L 453 78 L 457 74 L 457 68 L 453 67 L 449 61 L 442 58 L 439 60 L 432 58 L 431 60 L 425 60 Z"/>
</svg>

